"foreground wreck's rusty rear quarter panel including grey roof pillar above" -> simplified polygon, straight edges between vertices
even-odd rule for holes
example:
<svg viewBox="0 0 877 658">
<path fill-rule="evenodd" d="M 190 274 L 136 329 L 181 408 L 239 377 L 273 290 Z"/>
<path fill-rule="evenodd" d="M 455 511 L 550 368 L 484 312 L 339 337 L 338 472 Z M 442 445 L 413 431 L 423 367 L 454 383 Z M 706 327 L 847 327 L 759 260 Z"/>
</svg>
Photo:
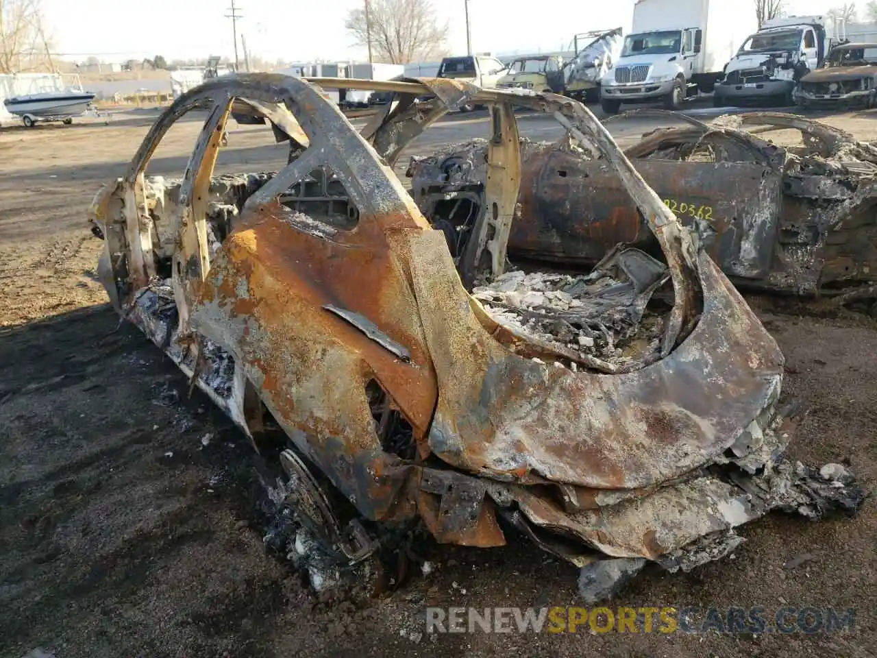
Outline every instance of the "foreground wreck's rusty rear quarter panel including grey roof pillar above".
<svg viewBox="0 0 877 658">
<path fill-rule="evenodd" d="M 296 447 L 364 516 L 410 518 L 414 498 L 399 490 L 413 467 L 383 451 L 366 387 L 374 380 L 386 391 L 425 449 L 437 382 L 395 242 L 428 224 L 319 89 L 276 75 L 253 79 L 265 88 L 256 100 L 288 99 L 310 147 L 247 199 L 199 286 L 192 327 L 232 353 Z M 332 168 L 360 211 L 352 230 L 274 200 L 320 166 Z M 408 358 L 327 306 L 365 318 Z"/>
</svg>

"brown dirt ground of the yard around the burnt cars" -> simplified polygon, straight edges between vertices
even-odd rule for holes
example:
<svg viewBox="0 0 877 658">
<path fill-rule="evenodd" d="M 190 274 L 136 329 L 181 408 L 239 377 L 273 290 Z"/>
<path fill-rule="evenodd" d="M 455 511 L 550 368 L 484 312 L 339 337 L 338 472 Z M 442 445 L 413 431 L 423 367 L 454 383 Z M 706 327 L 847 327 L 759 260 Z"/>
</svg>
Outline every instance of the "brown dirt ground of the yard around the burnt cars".
<svg viewBox="0 0 877 658">
<path fill-rule="evenodd" d="M 512 540 L 503 549 L 417 546 L 437 569 L 380 597 L 316 595 L 266 553 L 255 460 L 206 397 L 130 325 L 95 281 L 85 225 L 153 117 L 0 132 L 0 658 L 35 647 L 79 656 L 867 656 L 877 646 L 877 514 L 744 526 L 731 559 L 688 575 L 647 569 L 612 605 L 856 608 L 843 633 L 424 633 L 426 605 L 575 605 L 576 570 Z M 877 114 L 828 119 L 877 139 Z M 535 139 L 559 134 L 525 118 Z M 623 144 L 647 127 L 613 127 Z M 175 127 L 149 174 L 180 175 L 200 122 Z M 436 126 L 417 148 L 485 135 L 483 117 Z M 776 133 L 782 140 L 782 133 Z M 221 171 L 276 168 L 270 132 L 232 126 Z M 404 164 L 404 162 L 403 162 Z M 877 324 L 751 304 L 787 357 L 807 416 L 796 459 L 847 461 L 877 478 Z M 795 569 L 787 561 L 809 554 Z M 417 569 L 415 569 L 417 570 Z"/>
</svg>

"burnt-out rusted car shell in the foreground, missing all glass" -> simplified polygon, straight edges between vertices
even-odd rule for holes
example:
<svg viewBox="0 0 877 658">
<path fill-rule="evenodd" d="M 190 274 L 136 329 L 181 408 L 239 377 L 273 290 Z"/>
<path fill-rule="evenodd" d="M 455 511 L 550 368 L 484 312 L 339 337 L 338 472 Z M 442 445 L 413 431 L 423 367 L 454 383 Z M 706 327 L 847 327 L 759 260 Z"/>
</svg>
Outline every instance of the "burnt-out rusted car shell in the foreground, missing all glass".
<svg viewBox="0 0 877 658">
<path fill-rule="evenodd" d="M 273 491 L 296 519 L 290 554 L 318 546 L 341 569 L 388 529 L 422 524 L 474 547 L 517 529 L 580 566 L 583 595 L 600 597 L 647 561 L 687 570 L 726 554 L 734 529 L 768 510 L 855 508 L 847 476 L 781 461 L 792 422 L 779 348 L 583 105 L 362 81 L 396 100 L 356 132 L 317 86 L 352 83 L 206 82 L 161 115 L 91 217 L 118 311 L 264 454 L 266 426 L 282 428 Z M 241 102 L 289 140 L 280 172 L 212 176 Z M 491 113 L 484 211 L 452 254 L 391 167 L 467 103 Z M 619 248 L 568 281 L 508 269 L 522 179 L 513 104 L 553 113 L 602 158 L 660 260 Z M 182 180 L 146 178 L 193 110 L 207 118 Z M 527 309 L 496 301 L 528 285 L 543 291 Z"/>
</svg>

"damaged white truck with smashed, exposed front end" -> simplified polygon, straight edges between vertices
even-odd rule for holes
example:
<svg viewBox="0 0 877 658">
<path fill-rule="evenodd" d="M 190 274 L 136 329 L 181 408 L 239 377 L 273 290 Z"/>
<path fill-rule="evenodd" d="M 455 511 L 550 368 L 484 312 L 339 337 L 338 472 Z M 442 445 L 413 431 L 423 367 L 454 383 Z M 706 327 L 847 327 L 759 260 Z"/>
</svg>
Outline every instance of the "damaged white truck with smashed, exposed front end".
<svg viewBox="0 0 877 658">
<path fill-rule="evenodd" d="M 728 62 L 724 80 L 716 85 L 714 104 L 771 100 L 791 105 L 795 84 L 822 66 L 831 46 L 823 16 L 766 20 Z"/>
</svg>

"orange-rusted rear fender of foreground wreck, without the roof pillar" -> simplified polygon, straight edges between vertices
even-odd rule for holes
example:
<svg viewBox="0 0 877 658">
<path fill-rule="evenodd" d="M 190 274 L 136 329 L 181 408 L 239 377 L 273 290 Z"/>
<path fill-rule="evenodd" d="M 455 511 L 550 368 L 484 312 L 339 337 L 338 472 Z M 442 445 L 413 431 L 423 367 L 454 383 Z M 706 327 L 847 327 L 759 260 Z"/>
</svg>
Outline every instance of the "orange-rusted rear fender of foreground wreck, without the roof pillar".
<svg viewBox="0 0 877 658">
<path fill-rule="evenodd" d="M 232 348 L 297 447 L 360 511 L 410 516 L 412 501 L 397 494 L 411 467 L 381 449 L 366 396 L 376 380 L 425 441 L 437 383 L 395 247 L 366 228 L 374 218 L 361 231 L 321 233 L 274 204 L 245 219 L 211 264 L 193 324 Z M 327 304 L 374 322 L 410 362 Z M 392 509 L 397 500 L 409 508 Z"/>
</svg>

